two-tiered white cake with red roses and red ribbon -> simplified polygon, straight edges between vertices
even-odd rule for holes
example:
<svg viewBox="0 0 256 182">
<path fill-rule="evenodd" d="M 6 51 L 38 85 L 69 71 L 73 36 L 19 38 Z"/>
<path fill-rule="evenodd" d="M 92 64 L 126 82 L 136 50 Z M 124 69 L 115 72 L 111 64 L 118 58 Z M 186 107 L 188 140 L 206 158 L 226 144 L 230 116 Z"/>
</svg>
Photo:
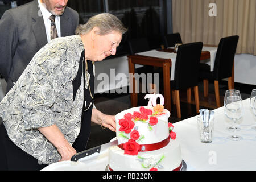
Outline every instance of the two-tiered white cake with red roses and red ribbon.
<svg viewBox="0 0 256 182">
<path fill-rule="evenodd" d="M 115 115 L 119 145 L 109 148 L 109 169 L 180 169 L 180 144 L 168 117 L 162 105 L 133 107 Z"/>
</svg>

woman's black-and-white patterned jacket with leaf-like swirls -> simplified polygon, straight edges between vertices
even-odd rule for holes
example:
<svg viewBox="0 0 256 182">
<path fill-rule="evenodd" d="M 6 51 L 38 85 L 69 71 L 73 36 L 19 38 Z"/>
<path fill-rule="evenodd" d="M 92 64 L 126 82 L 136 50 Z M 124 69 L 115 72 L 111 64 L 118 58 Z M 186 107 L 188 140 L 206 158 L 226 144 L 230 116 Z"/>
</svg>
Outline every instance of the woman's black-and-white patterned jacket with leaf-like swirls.
<svg viewBox="0 0 256 182">
<path fill-rule="evenodd" d="M 56 124 L 71 144 L 80 132 L 84 81 L 81 77 L 74 101 L 72 81 L 83 50 L 79 35 L 53 39 L 36 53 L 0 103 L 9 138 L 39 162 L 51 164 L 61 159 L 39 127 Z M 94 65 L 93 71 L 95 75 Z M 87 88 L 86 80 L 85 84 Z"/>
</svg>

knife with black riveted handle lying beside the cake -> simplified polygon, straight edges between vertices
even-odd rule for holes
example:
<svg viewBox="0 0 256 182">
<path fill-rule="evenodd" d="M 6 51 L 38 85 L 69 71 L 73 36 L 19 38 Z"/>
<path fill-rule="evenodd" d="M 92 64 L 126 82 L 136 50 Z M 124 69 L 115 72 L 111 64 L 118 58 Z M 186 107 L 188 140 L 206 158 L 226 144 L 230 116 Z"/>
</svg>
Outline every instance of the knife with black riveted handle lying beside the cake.
<svg viewBox="0 0 256 182">
<path fill-rule="evenodd" d="M 96 146 L 96 147 L 93 147 L 93 148 L 89 148 L 88 150 L 81 151 L 81 152 L 78 152 L 77 154 L 73 155 L 72 158 L 71 158 L 71 161 L 77 161 L 81 158 L 92 155 L 96 152 L 98 152 L 100 154 L 100 152 L 108 149 L 109 147 L 117 146 L 117 145 L 118 145 L 118 140 L 116 139 L 112 142 L 101 144 L 100 146 Z"/>
</svg>

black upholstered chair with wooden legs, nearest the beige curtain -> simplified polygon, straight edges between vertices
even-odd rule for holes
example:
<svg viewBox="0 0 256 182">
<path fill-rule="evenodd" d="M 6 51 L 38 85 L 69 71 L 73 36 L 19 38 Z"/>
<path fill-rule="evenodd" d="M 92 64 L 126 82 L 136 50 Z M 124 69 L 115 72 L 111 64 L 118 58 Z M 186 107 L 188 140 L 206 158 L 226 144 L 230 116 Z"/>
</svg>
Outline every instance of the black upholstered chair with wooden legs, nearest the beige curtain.
<svg viewBox="0 0 256 182">
<path fill-rule="evenodd" d="M 239 36 L 228 36 L 220 39 L 216 57 L 214 61 L 214 69 L 211 72 L 208 64 L 200 64 L 199 77 L 203 78 L 204 82 L 204 96 L 208 96 L 208 82 L 214 81 L 214 90 L 217 107 L 220 107 L 220 92 L 218 88 L 218 81 L 223 78 L 228 78 L 228 88 L 232 88 L 232 70 L 234 63 L 234 55 L 236 53 Z"/>
</svg>

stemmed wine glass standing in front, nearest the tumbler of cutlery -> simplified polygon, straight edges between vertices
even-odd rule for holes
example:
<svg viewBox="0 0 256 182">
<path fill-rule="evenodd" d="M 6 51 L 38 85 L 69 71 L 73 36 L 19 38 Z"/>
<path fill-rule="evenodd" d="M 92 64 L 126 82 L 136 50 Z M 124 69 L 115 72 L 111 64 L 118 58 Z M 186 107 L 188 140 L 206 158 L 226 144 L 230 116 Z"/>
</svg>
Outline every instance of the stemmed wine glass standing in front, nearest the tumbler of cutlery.
<svg viewBox="0 0 256 182">
<path fill-rule="evenodd" d="M 237 131 L 236 122 L 243 116 L 243 106 L 241 97 L 229 96 L 226 98 L 225 115 L 227 118 L 232 120 L 233 131 Z M 234 133 L 233 135 L 228 136 L 228 139 L 238 141 L 241 140 L 242 137 Z"/>
</svg>

